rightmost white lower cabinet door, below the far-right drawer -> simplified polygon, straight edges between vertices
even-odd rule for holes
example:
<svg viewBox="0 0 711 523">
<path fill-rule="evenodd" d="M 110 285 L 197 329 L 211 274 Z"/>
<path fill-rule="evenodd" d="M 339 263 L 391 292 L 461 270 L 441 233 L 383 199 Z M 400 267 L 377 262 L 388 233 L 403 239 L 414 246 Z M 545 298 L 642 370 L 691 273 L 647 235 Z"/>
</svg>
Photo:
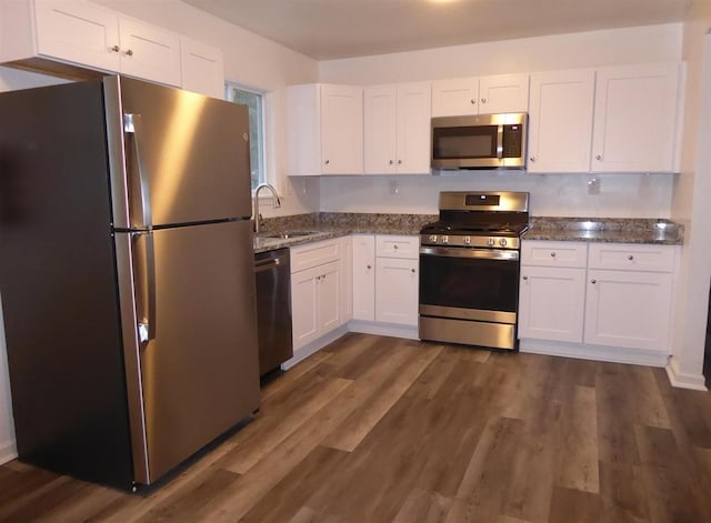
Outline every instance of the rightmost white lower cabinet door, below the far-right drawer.
<svg viewBox="0 0 711 523">
<path fill-rule="evenodd" d="M 672 275 L 589 270 L 585 343 L 669 352 Z"/>
</svg>

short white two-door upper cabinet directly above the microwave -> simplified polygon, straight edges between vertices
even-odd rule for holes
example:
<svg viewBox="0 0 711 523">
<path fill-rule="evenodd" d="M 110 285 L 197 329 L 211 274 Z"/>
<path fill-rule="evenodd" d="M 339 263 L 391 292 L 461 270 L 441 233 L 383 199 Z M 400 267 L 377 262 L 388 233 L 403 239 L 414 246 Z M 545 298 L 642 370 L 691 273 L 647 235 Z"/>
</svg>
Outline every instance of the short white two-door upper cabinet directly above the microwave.
<svg viewBox="0 0 711 523">
<path fill-rule="evenodd" d="M 527 112 L 528 109 L 528 74 L 442 80 L 432 84 L 433 117 Z"/>
</svg>

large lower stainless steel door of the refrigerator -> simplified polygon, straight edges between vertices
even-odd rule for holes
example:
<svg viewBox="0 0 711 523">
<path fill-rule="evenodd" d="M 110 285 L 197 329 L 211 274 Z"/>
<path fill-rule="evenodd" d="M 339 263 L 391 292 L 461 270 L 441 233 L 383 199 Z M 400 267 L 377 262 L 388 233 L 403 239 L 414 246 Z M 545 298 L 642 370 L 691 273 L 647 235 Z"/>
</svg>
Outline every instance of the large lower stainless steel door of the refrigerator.
<svg viewBox="0 0 711 523">
<path fill-rule="evenodd" d="M 130 404 L 132 422 L 142 419 L 133 425 L 134 445 L 142 437 L 146 445 L 140 482 L 152 483 L 259 409 L 251 235 L 243 220 L 117 234 L 118 244 L 132 244 L 133 282 L 119 272 L 122 300 L 134 294 L 137 320 L 147 324 L 132 336 L 137 365 L 127 365 L 142 395 Z M 134 292 L 126 290 L 131 283 Z"/>
</svg>

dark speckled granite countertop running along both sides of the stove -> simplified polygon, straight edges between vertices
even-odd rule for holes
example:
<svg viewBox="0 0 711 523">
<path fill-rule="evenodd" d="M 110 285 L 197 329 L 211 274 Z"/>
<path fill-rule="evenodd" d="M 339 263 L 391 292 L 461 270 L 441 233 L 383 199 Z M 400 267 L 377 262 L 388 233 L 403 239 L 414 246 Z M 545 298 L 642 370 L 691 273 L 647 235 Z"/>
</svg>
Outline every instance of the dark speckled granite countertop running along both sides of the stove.
<svg viewBox="0 0 711 523">
<path fill-rule="evenodd" d="M 268 218 L 254 237 L 254 252 L 296 247 L 352 233 L 419 234 L 437 214 L 378 214 L 318 212 Z M 617 243 L 683 243 L 683 227 L 661 219 L 531 218 L 524 240 L 591 241 Z M 287 232 L 308 233 L 281 238 Z M 279 237 L 279 238 L 273 238 Z"/>
</svg>

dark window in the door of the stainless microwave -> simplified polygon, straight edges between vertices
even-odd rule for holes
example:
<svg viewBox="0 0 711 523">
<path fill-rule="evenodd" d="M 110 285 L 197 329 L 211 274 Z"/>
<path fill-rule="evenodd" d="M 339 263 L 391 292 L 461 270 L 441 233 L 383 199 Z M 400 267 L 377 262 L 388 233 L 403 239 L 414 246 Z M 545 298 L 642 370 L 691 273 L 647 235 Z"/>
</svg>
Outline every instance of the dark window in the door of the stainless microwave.
<svg viewBox="0 0 711 523">
<path fill-rule="evenodd" d="M 434 128 L 433 157 L 438 160 L 497 158 L 498 125 Z"/>
</svg>

